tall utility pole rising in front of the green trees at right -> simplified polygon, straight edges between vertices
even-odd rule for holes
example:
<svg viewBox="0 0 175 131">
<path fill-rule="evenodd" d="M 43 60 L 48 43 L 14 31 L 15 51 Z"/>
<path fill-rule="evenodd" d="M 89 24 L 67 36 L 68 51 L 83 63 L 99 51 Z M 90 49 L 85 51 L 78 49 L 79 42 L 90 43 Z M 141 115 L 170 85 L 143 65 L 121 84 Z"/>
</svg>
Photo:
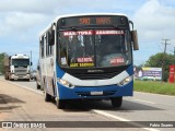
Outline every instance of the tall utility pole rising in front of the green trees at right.
<svg viewBox="0 0 175 131">
<path fill-rule="evenodd" d="M 163 43 L 165 45 L 164 47 L 164 53 L 163 53 L 163 57 L 162 57 L 162 80 L 164 81 L 164 74 L 165 74 L 165 57 L 166 57 L 166 46 L 170 45 L 167 44 L 167 40 L 170 39 L 162 39 L 164 40 L 165 43 Z"/>
</svg>

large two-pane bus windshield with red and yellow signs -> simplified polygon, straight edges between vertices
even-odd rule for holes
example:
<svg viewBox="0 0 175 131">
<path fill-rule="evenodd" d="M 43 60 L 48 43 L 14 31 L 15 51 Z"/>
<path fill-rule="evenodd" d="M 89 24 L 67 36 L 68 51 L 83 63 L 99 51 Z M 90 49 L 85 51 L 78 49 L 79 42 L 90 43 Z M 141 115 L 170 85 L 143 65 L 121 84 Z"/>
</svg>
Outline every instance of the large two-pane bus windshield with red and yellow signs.
<svg viewBox="0 0 175 131">
<path fill-rule="evenodd" d="M 67 68 L 107 68 L 131 62 L 128 29 L 60 32 L 59 63 Z"/>
</svg>

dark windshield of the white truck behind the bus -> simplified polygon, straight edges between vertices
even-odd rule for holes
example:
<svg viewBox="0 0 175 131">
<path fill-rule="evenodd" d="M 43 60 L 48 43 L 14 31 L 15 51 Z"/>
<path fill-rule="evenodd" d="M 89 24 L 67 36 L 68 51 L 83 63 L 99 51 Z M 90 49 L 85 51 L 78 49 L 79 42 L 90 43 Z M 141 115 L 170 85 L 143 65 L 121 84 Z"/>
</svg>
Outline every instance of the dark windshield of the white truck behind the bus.
<svg viewBox="0 0 175 131">
<path fill-rule="evenodd" d="M 12 59 L 12 66 L 30 66 L 30 59 Z"/>
</svg>

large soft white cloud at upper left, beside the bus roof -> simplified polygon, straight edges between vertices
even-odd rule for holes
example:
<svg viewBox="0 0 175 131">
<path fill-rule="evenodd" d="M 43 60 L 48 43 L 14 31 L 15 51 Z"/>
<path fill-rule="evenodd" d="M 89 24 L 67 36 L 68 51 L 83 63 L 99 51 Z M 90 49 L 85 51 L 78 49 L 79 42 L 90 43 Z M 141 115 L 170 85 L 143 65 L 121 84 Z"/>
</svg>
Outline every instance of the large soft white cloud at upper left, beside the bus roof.
<svg viewBox="0 0 175 131">
<path fill-rule="evenodd" d="M 12 12 L 5 13 L 0 21 L 0 36 L 25 34 L 39 27 L 47 20 L 47 15 L 37 13 Z"/>
</svg>

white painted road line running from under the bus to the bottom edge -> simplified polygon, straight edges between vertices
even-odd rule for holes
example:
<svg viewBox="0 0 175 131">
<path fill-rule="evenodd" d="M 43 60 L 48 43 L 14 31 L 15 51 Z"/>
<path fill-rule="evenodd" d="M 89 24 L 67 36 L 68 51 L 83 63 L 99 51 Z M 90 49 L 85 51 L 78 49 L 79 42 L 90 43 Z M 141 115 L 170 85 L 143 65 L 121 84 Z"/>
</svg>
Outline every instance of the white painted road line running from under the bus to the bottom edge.
<svg viewBox="0 0 175 131">
<path fill-rule="evenodd" d="M 121 117 L 118 117 L 118 116 L 114 116 L 114 115 L 107 114 L 107 112 L 102 111 L 102 110 L 93 109 L 92 111 L 95 112 L 95 114 L 108 117 L 108 118 L 113 118 L 113 119 L 119 120 L 119 121 L 130 121 L 131 124 L 137 126 L 137 127 L 141 127 L 141 124 L 132 122 L 131 120 L 128 120 L 128 119 L 125 119 L 125 118 L 121 118 Z M 144 130 L 148 130 L 148 131 L 160 131 L 158 129 L 152 129 L 152 128 L 141 128 L 141 129 L 144 129 Z"/>
</svg>

